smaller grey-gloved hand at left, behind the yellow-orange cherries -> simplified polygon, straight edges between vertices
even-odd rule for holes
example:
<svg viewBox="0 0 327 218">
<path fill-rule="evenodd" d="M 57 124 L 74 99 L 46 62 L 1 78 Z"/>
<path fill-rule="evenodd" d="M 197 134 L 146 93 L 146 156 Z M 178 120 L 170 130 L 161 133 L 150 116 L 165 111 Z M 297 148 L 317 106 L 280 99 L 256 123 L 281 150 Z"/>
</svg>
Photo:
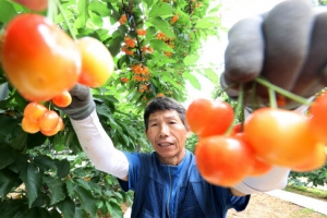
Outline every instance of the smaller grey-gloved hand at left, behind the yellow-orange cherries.
<svg viewBox="0 0 327 218">
<path fill-rule="evenodd" d="M 89 87 L 76 84 L 71 90 L 72 102 L 65 108 L 59 108 L 73 120 L 83 120 L 95 110 L 95 102 Z"/>
</svg>

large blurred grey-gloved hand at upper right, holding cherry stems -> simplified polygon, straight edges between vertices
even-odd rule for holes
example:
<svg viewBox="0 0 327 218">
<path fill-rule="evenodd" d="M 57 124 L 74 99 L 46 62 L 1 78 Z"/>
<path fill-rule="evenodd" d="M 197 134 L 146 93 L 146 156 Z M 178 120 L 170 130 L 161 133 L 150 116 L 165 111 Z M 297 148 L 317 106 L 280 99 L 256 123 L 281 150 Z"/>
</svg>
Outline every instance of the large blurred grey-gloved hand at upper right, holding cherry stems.
<svg viewBox="0 0 327 218">
<path fill-rule="evenodd" d="M 282 1 L 234 24 L 228 39 L 220 84 L 231 98 L 243 83 L 249 106 L 268 105 L 267 88 L 253 86 L 258 75 L 305 98 L 327 85 L 327 10 L 316 11 L 305 0 Z M 287 99 L 284 108 L 299 105 Z"/>
</svg>

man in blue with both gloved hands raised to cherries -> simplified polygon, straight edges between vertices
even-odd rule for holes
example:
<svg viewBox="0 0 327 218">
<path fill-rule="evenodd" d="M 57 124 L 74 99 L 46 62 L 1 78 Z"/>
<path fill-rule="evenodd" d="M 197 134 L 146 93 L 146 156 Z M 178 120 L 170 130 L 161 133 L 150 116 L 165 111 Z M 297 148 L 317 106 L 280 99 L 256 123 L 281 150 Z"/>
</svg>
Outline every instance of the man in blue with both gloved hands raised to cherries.
<svg viewBox="0 0 327 218">
<path fill-rule="evenodd" d="M 326 12 L 313 12 L 305 1 L 289 0 L 235 24 L 229 33 L 226 71 L 220 80 L 228 95 L 237 97 L 234 84 L 245 83 L 261 102 L 247 105 L 263 107 L 267 90 L 247 85 L 259 75 L 303 97 L 318 92 L 326 85 Z M 135 192 L 132 217 L 226 217 L 229 208 L 244 209 L 250 194 L 287 184 L 289 169 L 279 167 L 232 187 L 207 183 L 193 154 L 185 149 L 190 133 L 185 109 L 173 99 L 156 98 L 145 109 L 145 133 L 155 153 L 131 154 L 112 145 L 100 125 L 89 88 L 76 85 L 71 95 L 72 104 L 62 110 L 95 167 L 119 178 L 124 191 Z M 286 108 L 299 106 L 286 99 Z"/>
</svg>

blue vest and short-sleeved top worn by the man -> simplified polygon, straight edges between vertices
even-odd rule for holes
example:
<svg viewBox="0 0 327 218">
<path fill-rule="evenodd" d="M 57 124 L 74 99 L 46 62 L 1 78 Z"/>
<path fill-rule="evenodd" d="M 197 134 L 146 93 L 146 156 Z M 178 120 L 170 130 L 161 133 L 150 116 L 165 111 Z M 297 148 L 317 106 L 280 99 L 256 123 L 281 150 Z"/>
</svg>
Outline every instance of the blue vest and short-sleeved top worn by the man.
<svg viewBox="0 0 327 218">
<path fill-rule="evenodd" d="M 230 190 L 207 183 L 198 173 L 194 155 L 179 166 L 162 165 L 156 153 L 124 153 L 129 181 L 124 191 L 134 191 L 132 218 L 225 218 L 229 208 L 245 209 L 250 195 L 237 197 Z"/>
</svg>

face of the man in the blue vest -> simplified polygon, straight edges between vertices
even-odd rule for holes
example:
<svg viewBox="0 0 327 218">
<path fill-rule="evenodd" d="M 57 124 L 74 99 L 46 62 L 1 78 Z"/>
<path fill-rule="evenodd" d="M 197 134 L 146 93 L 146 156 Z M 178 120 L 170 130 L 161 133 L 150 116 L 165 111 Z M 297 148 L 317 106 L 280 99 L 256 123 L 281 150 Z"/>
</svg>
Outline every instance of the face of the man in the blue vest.
<svg viewBox="0 0 327 218">
<path fill-rule="evenodd" d="M 166 165 L 179 165 L 183 159 L 189 131 L 175 110 L 150 113 L 146 136 Z"/>
</svg>

